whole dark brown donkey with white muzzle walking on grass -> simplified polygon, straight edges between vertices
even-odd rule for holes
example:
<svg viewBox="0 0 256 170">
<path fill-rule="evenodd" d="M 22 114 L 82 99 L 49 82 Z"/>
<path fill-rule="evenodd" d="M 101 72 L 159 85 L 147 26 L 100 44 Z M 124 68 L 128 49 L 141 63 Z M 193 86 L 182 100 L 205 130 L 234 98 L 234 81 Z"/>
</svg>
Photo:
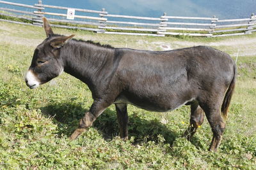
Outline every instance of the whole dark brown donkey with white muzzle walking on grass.
<svg viewBox="0 0 256 170">
<path fill-rule="evenodd" d="M 92 92 L 93 104 L 70 139 L 92 126 L 111 104 L 124 139 L 127 104 L 157 112 L 186 104 L 191 106 L 186 138 L 191 139 L 203 124 L 205 114 L 213 132 L 209 150 L 216 152 L 236 82 L 236 64 L 227 53 L 209 46 L 161 52 L 113 48 L 54 34 L 45 17 L 43 22 L 47 38 L 35 49 L 26 85 L 36 89 L 65 71 Z"/>
</svg>

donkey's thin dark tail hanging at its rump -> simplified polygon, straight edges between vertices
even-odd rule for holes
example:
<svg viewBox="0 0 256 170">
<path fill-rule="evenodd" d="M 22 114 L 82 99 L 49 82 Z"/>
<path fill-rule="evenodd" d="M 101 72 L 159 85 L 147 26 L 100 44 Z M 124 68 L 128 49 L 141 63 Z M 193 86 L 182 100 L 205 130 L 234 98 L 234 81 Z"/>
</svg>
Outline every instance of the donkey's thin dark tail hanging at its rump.
<svg viewBox="0 0 256 170">
<path fill-rule="evenodd" d="M 222 106 L 221 106 L 221 115 L 225 120 L 227 119 L 228 106 L 230 104 L 232 94 L 233 94 L 234 89 L 235 89 L 236 74 L 237 74 L 237 69 L 236 69 L 236 64 L 234 64 L 234 75 L 233 75 L 232 81 L 231 81 L 231 83 L 228 87 L 228 90 L 225 94 L 225 97 L 223 99 L 223 103 L 222 103 Z"/>
</svg>

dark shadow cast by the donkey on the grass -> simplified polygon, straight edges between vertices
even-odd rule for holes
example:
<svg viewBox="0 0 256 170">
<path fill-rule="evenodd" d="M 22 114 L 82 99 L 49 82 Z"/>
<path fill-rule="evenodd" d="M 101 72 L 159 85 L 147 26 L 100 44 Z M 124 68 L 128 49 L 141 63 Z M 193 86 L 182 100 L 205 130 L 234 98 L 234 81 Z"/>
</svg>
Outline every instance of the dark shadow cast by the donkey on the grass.
<svg viewBox="0 0 256 170">
<path fill-rule="evenodd" d="M 60 134 L 70 136 L 77 128 L 80 118 L 84 116 L 86 111 L 79 104 L 70 103 L 56 103 L 40 108 L 42 113 L 54 117 L 53 121 L 58 125 Z M 104 139 L 112 139 L 119 135 L 118 122 L 116 112 L 108 108 L 95 120 L 93 127 L 102 134 Z M 158 142 L 158 136 L 161 134 L 166 143 L 172 145 L 175 138 L 180 136 L 177 132 L 168 129 L 164 124 L 158 120 L 145 120 L 138 115 L 129 115 L 128 124 L 129 137 L 134 136 L 134 143 L 141 143 L 145 141 Z M 193 139 L 193 145 L 199 142 Z M 200 147 L 200 146 L 199 146 Z"/>
</svg>

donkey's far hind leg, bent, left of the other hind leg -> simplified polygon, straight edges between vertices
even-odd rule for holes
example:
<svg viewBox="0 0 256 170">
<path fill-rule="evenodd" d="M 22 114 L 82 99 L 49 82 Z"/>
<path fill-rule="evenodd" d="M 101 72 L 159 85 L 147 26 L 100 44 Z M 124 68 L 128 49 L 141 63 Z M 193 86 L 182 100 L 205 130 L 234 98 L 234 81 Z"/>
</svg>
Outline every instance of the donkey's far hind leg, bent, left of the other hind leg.
<svg viewBox="0 0 256 170">
<path fill-rule="evenodd" d="M 200 125 L 202 125 L 204 122 L 204 111 L 202 110 L 202 108 L 200 108 L 197 101 L 194 101 L 191 104 L 190 110 L 191 115 L 189 127 L 188 130 L 184 133 L 184 136 L 186 136 L 188 140 L 191 139 L 191 137 L 195 134 L 196 129 L 198 129 L 198 127 L 200 127 Z"/>
</svg>

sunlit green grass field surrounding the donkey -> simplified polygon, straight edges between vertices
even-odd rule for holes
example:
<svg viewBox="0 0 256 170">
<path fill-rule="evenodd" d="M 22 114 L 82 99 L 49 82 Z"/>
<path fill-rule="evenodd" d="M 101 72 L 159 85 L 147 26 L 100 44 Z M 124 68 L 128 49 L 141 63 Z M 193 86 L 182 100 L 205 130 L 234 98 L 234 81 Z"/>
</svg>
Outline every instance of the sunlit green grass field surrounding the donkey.
<svg viewBox="0 0 256 170">
<path fill-rule="evenodd" d="M 170 113 L 129 106 L 128 141 L 118 138 L 115 107 L 110 106 L 79 139 L 69 141 L 92 104 L 90 90 L 65 73 L 36 90 L 26 87 L 24 73 L 45 32 L 0 22 L 0 169 L 255 169 L 255 34 L 154 38 L 54 32 L 144 50 L 210 45 L 235 56 L 239 48 L 236 92 L 221 146 L 217 153 L 207 151 L 212 138 L 207 120 L 191 142 L 182 136 L 188 127 L 188 106 Z"/>
</svg>

